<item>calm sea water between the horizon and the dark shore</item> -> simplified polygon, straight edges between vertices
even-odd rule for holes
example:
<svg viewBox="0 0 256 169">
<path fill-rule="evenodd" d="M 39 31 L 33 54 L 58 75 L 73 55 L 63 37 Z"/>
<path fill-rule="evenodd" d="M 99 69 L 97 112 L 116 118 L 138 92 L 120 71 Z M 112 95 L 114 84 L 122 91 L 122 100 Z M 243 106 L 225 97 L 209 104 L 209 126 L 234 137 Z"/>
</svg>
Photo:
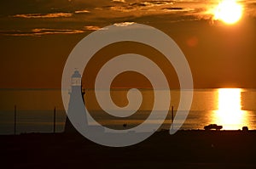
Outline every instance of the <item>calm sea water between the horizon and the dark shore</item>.
<svg viewBox="0 0 256 169">
<path fill-rule="evenodd" d="M 168 92 L 168 91 L 161 91 Z M 188 91 L 185 91 L 188 92 Z M 87 91 L 85 99 L 90 98 Z M 125 91 L 113 91 L 117 100 L 124 97 Z M 143 90 L 143 95 L 152 93 Z M 179 104 L 179 91 L 172 90 L 171 104 L 174 114 Z M 61 103 L 60 90 L 1 90 L 3 102 L 0 104 L 0 134 L 14 133 L 14 105 L 17 105 L 17 133 L 21 132 L 53 132 L 53 109 L 56 107 L 56 132 L 62 132 L 66 121 L 66 113 Z M 145 97 L 145 104 L 135 115 L 127 118 L 114 118 L 102 113 L 98 106 L 90 104 L 90 114 L 102 125 L 114 129 L 135 127 L 150 114 L 150 104 Z M 121 103 L 122 104 L 122 103 Z M 161 114 L 162 110 L 157 110 Z M 158 121 L 155 119 L 155 121 Z M 152 121 L 154 122 L 154 121 Z M 171 113 L 161 128 L 169 129 Z M 238 130 L 247 126 L 256 130 L 256 89 L 196 89 L 187 120 L 181 129 L 203 129 L 208 124 L 222 125 L 224 130 Z"/>
</svg>

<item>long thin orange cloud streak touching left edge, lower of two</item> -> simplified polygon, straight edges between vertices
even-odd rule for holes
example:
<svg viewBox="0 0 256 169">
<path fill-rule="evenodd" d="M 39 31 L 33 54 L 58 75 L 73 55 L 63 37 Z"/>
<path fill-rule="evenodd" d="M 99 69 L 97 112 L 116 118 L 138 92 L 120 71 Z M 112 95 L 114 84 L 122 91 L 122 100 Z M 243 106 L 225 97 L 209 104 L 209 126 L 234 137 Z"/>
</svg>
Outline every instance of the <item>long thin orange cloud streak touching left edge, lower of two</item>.
<svg viewBox="0 0 256 169">
<path fill-rule="evenodd" d="M 83 33 L 82 30 L 71 30 L 71 29 L 49 29 L 49 28 L 35 28 L 31 31 L 0 31 L 0 35 L 13 36 L 13 37 L 32 37 L 32 36 L 43 36 L 53 34 L 76 34 Z"/>
</svg>

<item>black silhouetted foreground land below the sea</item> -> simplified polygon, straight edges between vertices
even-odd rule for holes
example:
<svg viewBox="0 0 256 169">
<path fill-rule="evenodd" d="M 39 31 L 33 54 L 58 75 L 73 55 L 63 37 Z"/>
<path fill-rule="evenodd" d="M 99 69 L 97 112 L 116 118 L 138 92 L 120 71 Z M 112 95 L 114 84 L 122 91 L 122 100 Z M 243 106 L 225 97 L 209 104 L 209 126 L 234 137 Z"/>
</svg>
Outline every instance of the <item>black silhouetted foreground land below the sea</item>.
<svg viewBox="0 0 256 169">
<path fill-rule="evenodd" d="M 123 148 L 64 133 L 0 136 L 0 142 L 1 168 L 256 168 L 256 131 L 155 132 Z"/>
</svg>

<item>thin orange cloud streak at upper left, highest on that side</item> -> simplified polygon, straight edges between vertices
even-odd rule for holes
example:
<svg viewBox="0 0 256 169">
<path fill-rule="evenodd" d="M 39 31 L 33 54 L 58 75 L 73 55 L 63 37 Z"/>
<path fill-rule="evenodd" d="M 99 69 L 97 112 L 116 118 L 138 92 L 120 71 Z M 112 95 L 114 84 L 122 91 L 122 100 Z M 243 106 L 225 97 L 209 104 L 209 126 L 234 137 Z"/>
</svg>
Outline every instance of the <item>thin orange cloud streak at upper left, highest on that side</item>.
<svg viewBox="0 0 256 169">
<path fill-rule="evenodd" d="M 51 14 L 15 14 L 15 18 L 59 18 L 59 17 L 71 17 L 70 13 L 51 13 Z"/>
</svg>

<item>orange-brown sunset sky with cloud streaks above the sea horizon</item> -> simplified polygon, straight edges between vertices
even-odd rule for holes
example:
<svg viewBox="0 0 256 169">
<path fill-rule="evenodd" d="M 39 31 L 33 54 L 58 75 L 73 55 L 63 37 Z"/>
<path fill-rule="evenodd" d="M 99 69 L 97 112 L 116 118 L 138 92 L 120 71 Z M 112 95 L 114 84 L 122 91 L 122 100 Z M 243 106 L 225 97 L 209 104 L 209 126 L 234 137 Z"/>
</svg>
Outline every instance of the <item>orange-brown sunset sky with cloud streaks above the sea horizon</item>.
<svg viewBox="0 0 256 169">
<path fill-rule="evenodd" d="M 74 46 L 92 31 L 123 22 L 151 25 L 172 37 L 188 59 L 197 88 L 256 87 L 256 1 L 236 1 L 242 7 L 242 15 L 232 24 L 214 16 L 212 11 L 219 2 L 1 1 L 0 88 L 61 88 L 62 70 Z M 162 65 L 164 59 L 157 51 L 135 43 L 102 49 L 87 68 L 91 76 L 83 78 L 85 87 L 91 87 L 90 82 L 104 61 L 124 52 L 148 54 L 163 66 L 170 86 L 178 87 L 172 66 Z M 147 82 L 134 84 L 137 75 L 125 76 L 130 83 L 117 80 L 116 87 L 148 87 Z"/>
</svg>

